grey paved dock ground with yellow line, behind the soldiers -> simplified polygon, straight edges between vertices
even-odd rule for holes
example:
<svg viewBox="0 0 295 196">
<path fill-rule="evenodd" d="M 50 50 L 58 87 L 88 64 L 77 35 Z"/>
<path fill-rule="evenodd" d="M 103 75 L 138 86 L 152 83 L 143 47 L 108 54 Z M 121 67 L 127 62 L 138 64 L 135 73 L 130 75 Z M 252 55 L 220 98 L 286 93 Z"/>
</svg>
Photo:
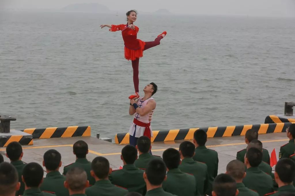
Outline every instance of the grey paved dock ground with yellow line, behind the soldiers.
<svg viewBox="0 0 295 196">
<path fill-rule="evenodd" d="M 49 149 L 56 149 L 62 155 L 63 163 L 60 168 L 60 172 L 62 172 L 65 165 L 75 161 L 72 146 L 73 143 L 81 139 L 87 142 L 89 146 L 89 154 L 87 155 L 89 161 L 93 160 L 96 156 L 105 156 L 113 169 L 118 169 L 120 165 L 123 164 L 120 159 L 120 152 L 124 145 L 106 142 L 96 139 L 95 137 L 34 139 L 33 146 L 23 146 L 24 157 L 22 160 L 27 163 L 37 162 L 42 165 L 44 152 Z M 280 146 L 289 141 L 286 137 L 286 133 L 261 134 L 258 139 L 263 142 L 263 147 L 266 148 L 269 153 L 271 153 L 273 148 L 276 148 L 277 156 Z M 178 148 L 182 141 L 183 140 L 175 142 L 153 142 L 152 152 L 154 155 L 162 156 L 165 149 L 170 147 Z M 218 152 L 218 173 L 225 172 L 227 163 L 236 158 L 237 151 L 246 147 L 244 136 L 208 138 L 206 144 L 207 147 Z M 0 153 L 5 156 L 5 148 L 0 148 Z M 8 158 L 4 157 L 4 161 L 8 161 Z"/>
</svg>

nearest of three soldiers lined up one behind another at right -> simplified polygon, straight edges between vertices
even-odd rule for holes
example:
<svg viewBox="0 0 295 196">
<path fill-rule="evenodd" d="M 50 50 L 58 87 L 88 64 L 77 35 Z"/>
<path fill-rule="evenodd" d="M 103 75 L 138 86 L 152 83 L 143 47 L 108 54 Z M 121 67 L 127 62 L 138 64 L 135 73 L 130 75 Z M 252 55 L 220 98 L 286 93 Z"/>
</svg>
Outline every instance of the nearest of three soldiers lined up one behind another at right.
<svg viewBox="0 0 295 196">
<path fill-rule="evenodd" d="M 243 179 L 243 183 L 249 189 L 257 191 L 260 196 L 263 196 L 273 191 L 273 180 L 270 175 L 259 169 L 261 161 L 262 152 L 257 148 L 249 148 L 245 157 L 247 175 Z"/>
</svg>

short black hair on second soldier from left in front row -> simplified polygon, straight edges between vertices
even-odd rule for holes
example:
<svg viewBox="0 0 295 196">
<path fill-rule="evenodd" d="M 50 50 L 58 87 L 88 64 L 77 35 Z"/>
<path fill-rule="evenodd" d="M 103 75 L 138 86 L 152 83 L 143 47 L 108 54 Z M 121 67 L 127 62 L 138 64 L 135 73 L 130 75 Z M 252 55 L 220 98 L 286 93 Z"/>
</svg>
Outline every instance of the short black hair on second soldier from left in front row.
<svg viewBox="0 0 295 196">
<path fill-rule="evenodd" d="M 27 187 L 38 187 L 43 179 L 44 171 L 38 163 L 31 162 L 24 166 L 22 176 Z"/>
</svg>

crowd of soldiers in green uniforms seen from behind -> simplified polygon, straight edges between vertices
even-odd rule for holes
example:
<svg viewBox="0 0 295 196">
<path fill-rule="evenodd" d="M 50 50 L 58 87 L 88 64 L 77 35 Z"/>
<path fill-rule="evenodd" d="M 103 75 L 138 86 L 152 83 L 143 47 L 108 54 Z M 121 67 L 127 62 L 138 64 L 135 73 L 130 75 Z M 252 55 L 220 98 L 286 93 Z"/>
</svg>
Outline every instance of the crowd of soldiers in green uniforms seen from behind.
<svg viewBox="0 0 295 196">
<path fill-rule="evenodd" d="M 10 163 L 0 154 L 0 196 L 295 196 L 295 124 L 286 134 L 290 141 L 281 147 L 273 172 L 258 132 L 249 129 L 247 147 L 219 175 L 218 154 L 205 146 L 207 133 L 202 129 L 194 132 L 193 143 L 168 148 L 162 157 L 150 154 L 150 139 L 142 136 L 136 147 L 122 148 L 119 170 L 112 170 L 105 157 L 88 161 L 88 145 L 79 140 L 73 144 L 76 161 L 62 174 L 57 150 L 45 152 L 43 170 L 38 163 L 24 163 L 22 146 L 11 142 L 6 147 Z"/>
</svg>

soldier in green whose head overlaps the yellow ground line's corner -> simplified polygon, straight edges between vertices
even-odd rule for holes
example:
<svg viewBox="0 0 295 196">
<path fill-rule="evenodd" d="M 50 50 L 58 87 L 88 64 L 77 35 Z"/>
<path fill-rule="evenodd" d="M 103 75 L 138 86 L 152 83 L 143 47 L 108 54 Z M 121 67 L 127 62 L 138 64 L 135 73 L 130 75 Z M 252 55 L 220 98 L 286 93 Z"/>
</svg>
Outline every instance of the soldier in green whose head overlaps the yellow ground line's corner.
<svg viewBox="0 0 295 196">
<path fill-rule="evenodd" d="M 63 175 L 66 175 L 68 170 L 73 167 L 80 167 L 86 171 L 87 179 L 89 180 L 90 185 L 94 185 L 95 179 L 90 174 L 91 162 L 86 159 L 86 155 L 88 154 L 87 143 L 83 140 L 75 142 L 73 145 L 73 153 L 76 155 L 76 161 L 63 168 Z"/>
</svg>

